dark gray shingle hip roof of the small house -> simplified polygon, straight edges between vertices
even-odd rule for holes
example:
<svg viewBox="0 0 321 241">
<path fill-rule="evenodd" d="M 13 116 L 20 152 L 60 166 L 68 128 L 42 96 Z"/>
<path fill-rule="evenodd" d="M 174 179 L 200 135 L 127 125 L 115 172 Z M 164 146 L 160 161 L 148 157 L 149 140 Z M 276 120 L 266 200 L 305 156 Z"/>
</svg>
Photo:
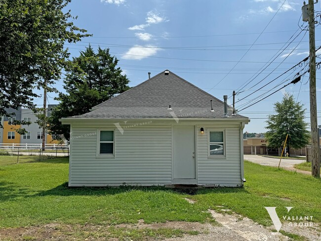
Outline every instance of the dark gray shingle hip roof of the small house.
<svg viewBox="0 0 321 241">
<path fill-rule="evenodd" d="M 179 76 L 165 71 L 72 118 L 223 118 L 224 103 Z M 212 105 L 214 112 L 210 112 Z M 172 110 L 168 110 L 169 105 Z M 229 116 L 232 110 L 229 107 Z M 244 118 L 236 115 L 233 118 Z"/>
</svg>

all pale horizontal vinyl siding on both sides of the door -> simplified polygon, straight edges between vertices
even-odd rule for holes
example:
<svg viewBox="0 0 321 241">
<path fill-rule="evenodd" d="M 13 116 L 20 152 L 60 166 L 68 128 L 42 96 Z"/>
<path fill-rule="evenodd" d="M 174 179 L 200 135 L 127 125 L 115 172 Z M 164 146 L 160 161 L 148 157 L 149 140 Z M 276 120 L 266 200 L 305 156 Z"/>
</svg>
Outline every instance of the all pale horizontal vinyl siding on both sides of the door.
<svg viewBox="0 0 321 241">
<path fill-rule="evenodd" d="M 106 123 L 71 124 L 69 186 L 171 184 L 172 124 L 176 124 L 175 121 L 131 126 L 124 128 L 122 134 L 114 124 Z M 198 185 L 241 185 L 241 123 L 201 123 L 190 122 L 197 127 Z M 203 135 L 199 131 L 201 127 L 204 128 Z M 207 130 L 213 128 L 225 129 L 226 158 L 208 157 Z M 96 157 L 98 129 L 115 130 L 114 158 Z"/>
</svg>

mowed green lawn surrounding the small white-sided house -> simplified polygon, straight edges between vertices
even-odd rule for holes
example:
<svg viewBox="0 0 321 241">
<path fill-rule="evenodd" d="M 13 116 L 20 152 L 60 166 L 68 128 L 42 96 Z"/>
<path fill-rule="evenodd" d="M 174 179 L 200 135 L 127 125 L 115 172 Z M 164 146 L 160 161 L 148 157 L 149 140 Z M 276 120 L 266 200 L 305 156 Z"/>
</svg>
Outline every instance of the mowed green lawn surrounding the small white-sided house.
<svg viewBox="0 0 321 241">
<path fill-rule="evenodd" d="M 217 205 L 262 225 L 272 224 L 264 206 L 277 206 L 279 216 L 293 206 L 291 216 L 321 223 L 321 179 L 247 161 L 245 178 L 244 188 L 201 189 L 190 196 L 161 187 L 68 188 L 68 158 L 1 165 L 0 227 L 212 222 L 207 210 L 219 211 Z"/>
</svg>

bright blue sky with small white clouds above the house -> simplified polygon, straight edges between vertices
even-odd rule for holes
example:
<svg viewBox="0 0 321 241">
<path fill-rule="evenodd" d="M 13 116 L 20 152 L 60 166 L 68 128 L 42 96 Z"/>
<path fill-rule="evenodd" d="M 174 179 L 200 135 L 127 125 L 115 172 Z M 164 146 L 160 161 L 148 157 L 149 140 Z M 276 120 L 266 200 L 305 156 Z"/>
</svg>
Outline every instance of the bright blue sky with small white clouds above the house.
<svg viewBox="0 0 321 241">
<path fill-rule="evenodd" d="M 276 85 L 281 83 L 281 87 L 293 80 L 295 73 L 305 66 L 298 66 L 261 88 L 308 56 L 309 32 L 301 31 L 298 26 L 306 25 L 300 19 L 303 2 L 286 0 L 282 5 L 283 2 L 74 0 L 68 8 L 74 16 L 78 16 L 74 21 L 76 26 L 86 29 L 93 37 L 76 44 L 66 44 L 66 47 L 70 49 L 71 56 L 78 56 L 79 51 L 89 43 L 94 49 L 99 45 L 110 48 L 111 54 L 120 60 L 119 66 L 129 78 L 130 86 L 147 80 L 148 72 L 154 76 L 169 69 L 219 99 L 223 99 L 223 95 L 230 97 L 233 90 L 239 90 L 236 99 L 240 101 L 236 107 L 241 110 L 251 103 L 248 101 L 265 93 L 265 90 L 276 90 Z M 320 7 L 320 3 L 315 4 L 316 11 Z M 321 45 L 320 30 L 321 27 L 317 26 L 317 47 Z M 274 58 L 267 67 L 266 63 Z M 252 80 L 264 67 L 266 69 Z M 301 82 L 290 84 L 240 112 L 251 119 L 244 131 L 264 132 L 264 118 L 273 113 L 273 104 L 281 100 L 284 91 L 292 93 L 304 104 L 306 116 L 310 117 L 308 79 L 309 74 L 306 74 Z M 317 79 L 318 101 L 320 81 Z M 249 84 L 241 88 L 247 82 Z M 56 87 L 63 91 L 62 81 L 57 82 Z M 244 98 L 259 88 L 256 93 Z M 57 103 L 53 100 L 54 93 L 48 95 L 49 104 Z M 42 99 L 36 101 L 39 105 L 42 103 Z M 229 98 L 229 103 L 232 103 L 232 98 Z M 321 116 L 321 111 L 318 116 Z M 306 121 L 310 122 L 310 119 Z"/>
</svg>

